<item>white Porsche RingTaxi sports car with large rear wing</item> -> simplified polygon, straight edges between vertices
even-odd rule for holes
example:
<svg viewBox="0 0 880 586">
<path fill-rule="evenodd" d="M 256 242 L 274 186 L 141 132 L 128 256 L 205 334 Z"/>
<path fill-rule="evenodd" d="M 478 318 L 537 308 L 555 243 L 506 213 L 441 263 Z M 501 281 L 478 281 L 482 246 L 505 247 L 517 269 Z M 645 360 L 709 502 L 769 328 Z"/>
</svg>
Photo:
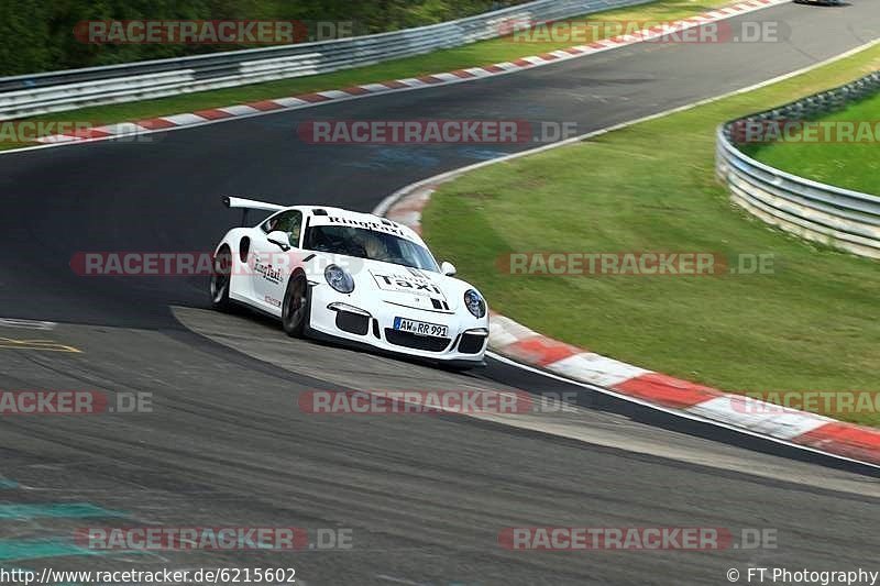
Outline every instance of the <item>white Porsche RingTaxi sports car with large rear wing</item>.
<svg viewBox="0 0 880 586">
<path fill-rule="evenodd" d="M 413 230 L 326 206 L 284 207 L 224 197 L 229 208 L 273 212 L 235 228 L 215 250 L 211 302 L 242 303 L 282 320 L 292 336 L 366 345 L 457 368 L 482 366 L 488 308 L 475 287 L 438 265 Z M 243 218 L 243 222 L 244 218 Z"/>
</svg>

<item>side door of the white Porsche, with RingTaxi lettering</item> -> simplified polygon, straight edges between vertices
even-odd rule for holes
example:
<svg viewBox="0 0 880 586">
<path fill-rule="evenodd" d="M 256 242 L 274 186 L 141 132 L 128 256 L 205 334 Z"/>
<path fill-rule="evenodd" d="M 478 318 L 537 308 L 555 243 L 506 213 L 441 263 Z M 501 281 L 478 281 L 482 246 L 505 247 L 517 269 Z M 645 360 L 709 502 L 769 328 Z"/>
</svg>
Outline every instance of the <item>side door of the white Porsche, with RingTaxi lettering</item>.
<svg viewBox="0 0 880 586">
<path fill-rule="evenodd" d="M 282 314 L 287 277 L 299 257 L 296 253 L 299 251 L 301 226 L 301 211 L 279 211 L 260 225 L 251 244 L 254 301 L 275 316 Z"/>
</svg>

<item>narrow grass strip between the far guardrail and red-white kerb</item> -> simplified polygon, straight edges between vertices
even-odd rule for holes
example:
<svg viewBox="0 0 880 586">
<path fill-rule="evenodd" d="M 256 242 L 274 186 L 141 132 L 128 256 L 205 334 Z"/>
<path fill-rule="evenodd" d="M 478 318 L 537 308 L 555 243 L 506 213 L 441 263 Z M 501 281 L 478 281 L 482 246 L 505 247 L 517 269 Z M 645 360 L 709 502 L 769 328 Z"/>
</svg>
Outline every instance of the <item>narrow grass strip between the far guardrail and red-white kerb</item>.
<svg viewBox="0 0 880 586">
<path fill-rule="evenodd" d="M 698 14 L 713 8 L 727 5 L 733 0 L 661 0 L 637 7 L 590 14 L 590 20 L 639 21 L 648 25 Z M 601 30 L 601 29 L 600 29 Z M 138 121 L 161 115 L 191 112 L 207 108 L 219 108 L 258 100 L 283 98 L 298 93 L 340 89 L 362 84 L 374 84 L 389 79 L 402 79 L 437 74 L 466 67 L 477 67 L 512 60 L 529 55 L 547 53 L 581 44 L 576 42 L 525 42 L 508 37 L 472 43 L 462 47 L 437 51 L 415 57 L 394 59 L 367 67 L 346 69 L 331 74 L 296 77 L 254 84 L 237 88 L 185 93 L 170 98 L 146 100 L 110 106 L 82 108 L 76 111 L 56 112 L 34 117 L 33 121 L 87 121 L 92 125 Z M 25 146 L 28 143 L 0 142 L 0 150 Z"/>
</svg>

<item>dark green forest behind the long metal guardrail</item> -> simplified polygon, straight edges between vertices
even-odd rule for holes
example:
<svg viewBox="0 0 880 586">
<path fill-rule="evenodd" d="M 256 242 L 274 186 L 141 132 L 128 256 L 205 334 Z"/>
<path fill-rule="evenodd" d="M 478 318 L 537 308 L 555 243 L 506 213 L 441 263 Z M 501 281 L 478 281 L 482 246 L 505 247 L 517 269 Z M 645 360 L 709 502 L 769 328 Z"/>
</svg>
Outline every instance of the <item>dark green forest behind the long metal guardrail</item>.
<svg viewBox="0 0 880 586">
<path fill-rule="evenodd" d="M 525 0 L 0 0 L 0 76 L 248 48 L 246 44 L 94 44 L 84 21 L 296 20 L 355 34 L 453 20 Z"/>
</svg>

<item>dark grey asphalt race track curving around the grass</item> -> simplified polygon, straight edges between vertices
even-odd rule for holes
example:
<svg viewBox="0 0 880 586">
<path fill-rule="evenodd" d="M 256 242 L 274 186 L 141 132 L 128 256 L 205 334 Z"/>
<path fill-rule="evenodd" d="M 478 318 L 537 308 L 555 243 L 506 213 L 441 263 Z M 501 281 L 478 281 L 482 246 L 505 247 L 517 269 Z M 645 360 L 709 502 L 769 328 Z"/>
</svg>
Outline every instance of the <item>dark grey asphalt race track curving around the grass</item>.
<svg viewBox="0 0 880 586">
<path fill-rule="evenodd" d="M 154 403 L 138 414 L 0 422 L 0 563 L 293 566 L 309 586 L 724 584 L 728 568 L 750 565 L 869 567 L 880 546 L 880 485 L 867 467 L 499 362 L 458 375 L 289 340 L 261 318 L 209 311 L 207 278 L 86 278 L 69 267 L 81 251 L 209 250 L 238 222 L 220 195 L 370 210 L 414 180 L 535 146 L 312 146 L 297 137 L 306 120 L 573 121 L 584 133 L 880 35 L 875 0 L 784 4 L 733 22 L 741 20 L 780 21 L 790 38 L 641 44 L 453 87 L 168 132 L 152 144 L 0 156 L 0 318 L 58 322 L 50 331 L 0 324 L 0 389 L 141 391 Z M 22 342 L 35 339 L 67 350 Z M 297 402 L 309 390 L 371 388 L 564 391 L 582 407 L 365 417 L 309 414 Z M 352 546 L 88 555 L 69 543 L 77 528 L 143 524 L 338 528 L 350 531 Z M 713 527 L 735 535 L 762 528 L 776 531 L 778 546 L 551 553 L 498 544 L 504 528 L 550 526 Z"/>
</svg>

